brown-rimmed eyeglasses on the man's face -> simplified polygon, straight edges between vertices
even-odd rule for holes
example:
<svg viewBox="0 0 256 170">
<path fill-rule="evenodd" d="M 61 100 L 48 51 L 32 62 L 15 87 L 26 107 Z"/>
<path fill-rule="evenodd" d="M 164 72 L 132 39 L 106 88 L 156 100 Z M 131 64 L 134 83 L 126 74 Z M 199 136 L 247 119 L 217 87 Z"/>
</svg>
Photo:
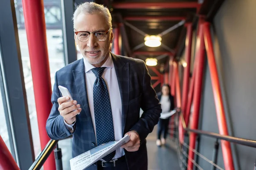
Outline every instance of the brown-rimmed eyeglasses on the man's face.
<svg viewBox="0 0 256 170">
<path fill-rule="evenodd" d="M 90 34 L 94 34 L 97 40 L 105 41 L 107 39 L 107 35 L 112 27 L 108 29 L 108 31 L 95 31 L 95 32 L 88 32 L 88 31 L 75 31 L 77 39 L 79 41 L 85 42 L 89 40 Z"/>
</svg>

